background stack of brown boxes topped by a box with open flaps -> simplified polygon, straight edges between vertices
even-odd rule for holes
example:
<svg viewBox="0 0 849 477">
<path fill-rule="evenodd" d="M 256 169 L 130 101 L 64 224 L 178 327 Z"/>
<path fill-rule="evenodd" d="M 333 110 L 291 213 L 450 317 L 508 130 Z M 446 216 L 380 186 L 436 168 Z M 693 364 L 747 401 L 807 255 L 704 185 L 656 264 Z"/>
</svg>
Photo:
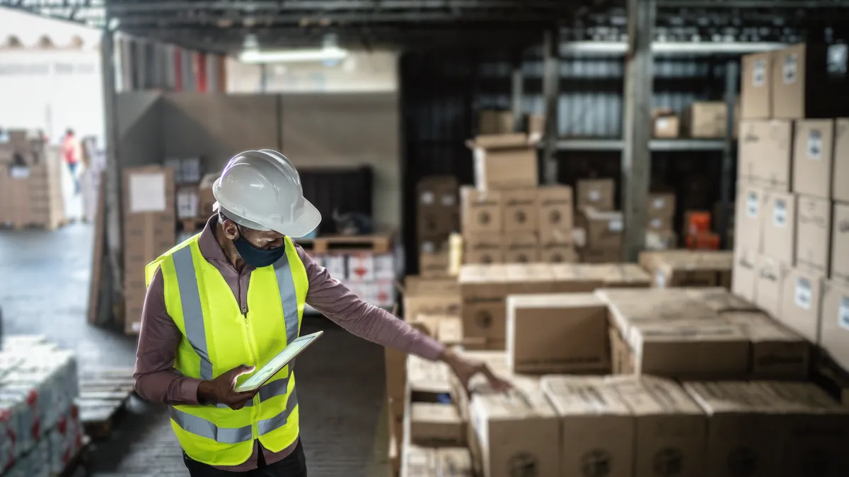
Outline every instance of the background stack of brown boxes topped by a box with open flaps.
<svg viewBox="0 0 849 477">
<path fill-rule="evenodd" d="M 574 261 L 572 190 L 537 187 L 526 134 L 479 136 L 475 187 L 460 188 L 465 263 Z"/>
</svg>

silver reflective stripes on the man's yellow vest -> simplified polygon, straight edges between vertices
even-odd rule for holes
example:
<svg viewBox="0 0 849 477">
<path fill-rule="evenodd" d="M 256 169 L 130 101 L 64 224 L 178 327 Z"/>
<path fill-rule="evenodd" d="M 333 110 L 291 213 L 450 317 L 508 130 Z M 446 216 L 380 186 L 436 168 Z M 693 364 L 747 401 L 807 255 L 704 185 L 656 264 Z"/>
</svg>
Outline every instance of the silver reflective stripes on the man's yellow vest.
<svg viewBox="0 0 849 477">
<path fill-rule="evenodd" d="M 286 246 L 284 244 L 284 246 Z M 198 289 L 198 278 L 195 275 L 194 271 L 194 257 L 192 255 L 192 250 L 190 246 L 183 247 L 177 251 L 175 251 L 171 255 L 174 262 L 174 272 L 177 275 L 177 286 L 180 289 L 180 301 L 183 304 L 183 323 L 186 330 L 186 340 L 194 349 L 194 352 L 200 357 L 200 379 L 213 379 L 212 376 L 212 362 L 209 358 L 209 349 L 206 344 L 206 332 L 204 328 L 204 313 L 203 308 L 200 305 L 200 291 Z M 286 343 L 291 343 L 292 341 L 298 338 L 298 299 L 295 294 L 295 281 L 292 278 L 292 272 L 289 265 L 289 258 L 286 254 L 283 255 L 280 260 L 278 260 L 274 264 L 274 272 L 277 276 L 278 288 L 280 290 L 280 300 L 282 300 L 283 312 L 284 312 L 284 320 L 286 323 Z M 290 362 L 289 372 L 292 372 L 292 368 L 294 368 L 295 362 Z M 276 379 L 270 383 L 264 384 L 258 394 L 260 401 L 267 401 L 276 396 L 285 396 L 286 391 L 289 389 L 289 376 L 283 379 Z M 295 390 L 292 391 L 293 396 L 295 396 Z M 292 397 L 290 396 L 288 402 L 286 403 L 287 410 L 290 408 L 290 403 L 293 402 Z M 245 407 L 252 407 L 254 405 L 253 401 L 248 401 L 245 403 Z M 294 400 L 294 404 L 291 404 L 291 408 L 294 409 L 297 405 L 297 398 Z M 226 408 L 228 407 L 226 404 L 216 403 L 215 407 Z M 221 430 L 216 428 L 215 424 L 205 420 L 204 418 L 199 418 L 196 416 L 192 416 L 190 414 L 186 414 L 185 412 L 179 411 L 174 407 L 171 407 L 171 418 L 175 414 L 182 414 L 183 416 L 188 416 L 187 426 L 183 426 L 180 420 L 174 418 L 177 424 L 188 432 L 197 435 L 208 436 L 208 434 L 212 433 L 214 435 L 221 435 L 223 441 L 216 439 L 216 441 L 235 444 L 242 441 L 229 441 L 228 439 L 237 439 L 239 437 L 240 430 L 248 429 L 248 435 L 250 438 L 250 426 L 246 428 L 240 429 L 223 429 L 226 432 L 218 433 L 217 430 Z M 286 418 L 289 417 L 288 412 L 281 412 L 277 416 L 271 419 L 266 419 L 266 421 L 274 421 L 278 423 L 277 427 L 281 427 L 286 424 Z M 198 424 L 198 423 L 205 424 Z M 263 423 L 265 421 L 261 421 Z M 266 426 L 270 424 L 265 424 Z M 204 434 L 199 432 L 194 432 L 192 429 L 199 429 L 205 431 Z M 210 430 L 211 429 L 211 430 Z M 261 429 L 261 428 L 260 428 Z M 270 428 L 268 431 L 276 429 Z M 264 432 L 260 432 L 260 434 L 265 434 Z M 212 438 L 211 438 L 212 439 Z"/>
</svg>

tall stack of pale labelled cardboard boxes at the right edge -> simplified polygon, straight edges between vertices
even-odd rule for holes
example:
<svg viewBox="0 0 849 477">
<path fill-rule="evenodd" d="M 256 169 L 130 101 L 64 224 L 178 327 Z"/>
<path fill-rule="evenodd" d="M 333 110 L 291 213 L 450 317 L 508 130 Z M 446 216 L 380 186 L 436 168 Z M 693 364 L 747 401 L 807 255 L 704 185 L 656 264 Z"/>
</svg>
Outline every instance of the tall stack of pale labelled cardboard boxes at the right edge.
<svg viewBox="0 0 849 477">
<path fill-rule="evenodd" d="M 849 76 L 834 48 L 743 59 L 734 292 L 849 369 Z"/>
</svg>

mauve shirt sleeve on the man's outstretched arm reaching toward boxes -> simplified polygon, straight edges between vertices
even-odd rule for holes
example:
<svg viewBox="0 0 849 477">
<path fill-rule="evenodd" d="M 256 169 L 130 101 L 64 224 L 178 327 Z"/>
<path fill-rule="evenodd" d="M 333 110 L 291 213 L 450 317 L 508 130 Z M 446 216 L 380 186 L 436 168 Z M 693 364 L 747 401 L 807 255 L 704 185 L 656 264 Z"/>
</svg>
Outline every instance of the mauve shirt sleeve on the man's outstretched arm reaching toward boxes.
<svg viewBox="0 0 849 477">
<path fill-rule="evenodd" d="M 301 247 L 297 250 L 310 283 L 306 292 L 308 305 L 363 340 L 431 361 L 439 358 L 444 345 L 389 311 L 361 300 L 343 283 L 331 277 L 327 269 L 312 260 Z"/>
</svg>

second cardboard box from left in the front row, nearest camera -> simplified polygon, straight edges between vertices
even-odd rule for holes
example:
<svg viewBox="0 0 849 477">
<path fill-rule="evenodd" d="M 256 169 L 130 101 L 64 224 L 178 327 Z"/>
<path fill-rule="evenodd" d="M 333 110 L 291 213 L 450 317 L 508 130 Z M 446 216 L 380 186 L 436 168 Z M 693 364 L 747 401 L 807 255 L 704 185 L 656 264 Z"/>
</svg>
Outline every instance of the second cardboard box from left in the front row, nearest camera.
<svg viewBox="0 0 849 477">
<path fill-rule="evenodd" d="M 633 475 L 634 418 L 604 379 L 546 376 L 541 381 L 560 418 L 560 475 Z"/>
</svg>

